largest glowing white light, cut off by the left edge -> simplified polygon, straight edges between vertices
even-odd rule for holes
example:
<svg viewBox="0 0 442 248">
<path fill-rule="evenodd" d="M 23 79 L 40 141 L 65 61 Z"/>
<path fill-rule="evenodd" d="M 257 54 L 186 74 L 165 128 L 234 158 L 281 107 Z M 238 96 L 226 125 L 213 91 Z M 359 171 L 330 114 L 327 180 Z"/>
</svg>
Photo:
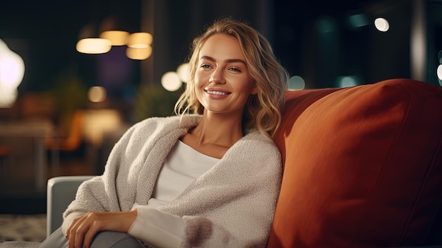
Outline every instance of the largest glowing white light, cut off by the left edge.
<svg viewBox="0 0 442 248">
<path fill-rule="evenodd" d="M 23 59 L 0 40 L 0 107 L 11 107 L 16 101 L 24 74 Z"/>
</svg>

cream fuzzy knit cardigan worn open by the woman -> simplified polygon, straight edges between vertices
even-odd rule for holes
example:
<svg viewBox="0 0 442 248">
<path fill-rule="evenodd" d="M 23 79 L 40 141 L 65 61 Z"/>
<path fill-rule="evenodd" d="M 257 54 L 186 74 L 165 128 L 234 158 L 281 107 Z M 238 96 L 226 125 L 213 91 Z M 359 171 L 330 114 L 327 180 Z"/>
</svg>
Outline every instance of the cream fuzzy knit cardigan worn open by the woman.
<svg viewBox="0 0 442 248">
<path fill-rule="evenodd" d="M 64 218 L 77 211 L 129 211 L 134 203 L 147 204 L 169 150 L 200 121 L 199 115 L 187 115 L 132 126 L 112 149 L 104 174 L 80 185 Z M 177 199 L 157 209 L 184 219 L 181 247 L 265 247 L 281 175 L 275 143 L 253 131 Z"/>
</svg>

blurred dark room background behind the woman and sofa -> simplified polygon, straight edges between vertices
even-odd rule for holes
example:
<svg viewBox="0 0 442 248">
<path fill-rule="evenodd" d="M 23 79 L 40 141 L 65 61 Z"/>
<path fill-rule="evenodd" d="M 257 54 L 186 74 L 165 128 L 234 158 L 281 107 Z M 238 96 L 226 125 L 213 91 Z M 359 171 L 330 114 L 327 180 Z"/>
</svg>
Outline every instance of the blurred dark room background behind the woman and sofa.
<svg viewBox="0 0 442 248">
<path fill-rule="evenodd" d="M 0 107 L 0 213 L 29 212 L 19 207 L 29 199 L 44 212 L 47 178 L 100 174 L 127 126 L 172 114 L 180 88 L 165 90 L 162 76 L 177 71 L 193 37 L 216 18 L 244 20 L 268 37 L 297 90 L 389 78 L 440 87 L 441 9 L 440 0 L 2 1 L 0 39 L 25 74 L 13 105 Z M 376 18 L 388 21 L 386 32 Z M 152 34 L 152 55 L 129 59 L 124 45 L 77 52 L 80 30 L 95 27 L 98 37 L 107 20 Z M 91 101 L 93 86 L 106 98 Z"/>
</svg>

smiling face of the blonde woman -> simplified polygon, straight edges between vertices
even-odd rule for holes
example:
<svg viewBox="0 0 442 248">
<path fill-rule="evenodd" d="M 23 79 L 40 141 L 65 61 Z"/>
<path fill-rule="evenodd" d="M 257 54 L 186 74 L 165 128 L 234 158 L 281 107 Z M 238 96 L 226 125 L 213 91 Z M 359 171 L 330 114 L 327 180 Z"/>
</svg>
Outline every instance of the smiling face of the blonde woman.
<svg viewBox="0 0 442 248">
<path fill-rule="evenodd" d="M 195 73 L 196 97 L 205 111 L 234 114 L 241 118 L 254 81 L 236 37 L 212 35 L 198 55 Z"/>
</svg>

